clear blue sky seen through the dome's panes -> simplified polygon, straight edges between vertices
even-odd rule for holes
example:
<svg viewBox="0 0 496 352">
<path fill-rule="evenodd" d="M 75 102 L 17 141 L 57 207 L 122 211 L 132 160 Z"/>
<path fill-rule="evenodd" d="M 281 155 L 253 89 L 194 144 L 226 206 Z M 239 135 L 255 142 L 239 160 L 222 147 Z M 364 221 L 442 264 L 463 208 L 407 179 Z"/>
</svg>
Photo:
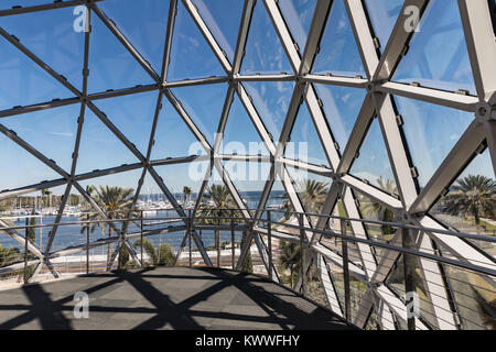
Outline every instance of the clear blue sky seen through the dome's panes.
<svg viewBox="0 0 496 352">
<path fill-rule="evenodd" d="M 10 8 L 19 2 L 21 1 L 2 1 L 0 8 Z M 30 0 L 23 1 L 22 4 L 45 2 L 45 0 Z M 231 61 L 244 1 L 194 0 L 193 2 L 212 29 L 228 59 Z M 381 50 L 386 46 L 400 2 L 399 0 L 374 0 L 374 7 L 371 7 L 371 1 L 366 1 Z M 316 0 L 279 1 L 300 52 L 305 45 L 315 3 Z M 169 1 L 106 0 L 100 2 L 99 7 L 160 74 Z M 0 26 L 18 36 L 33 53 L 64 75 L 76 88 L 82 89 L 84 33 L 76 33 L 73 30 L 73 21 L 76 18 L 73 10 L 73 8 L 66 8 L 3 16 L 0 18 Z M 229 15 L 226 15 L 226 12 Z M 91 16 L 91 23 L 88 91 L 97 92 L 151 84 L 150 76 L 95 14 Z M 444 31 L 440 32 L 440 29 Z M 421 22 L 421 31 L 413 36 L 410 51 L 398 67 L 395 79 L 406 82 L 414 80 L 425 86 L 450 90 L 463 88 L 473 92 L 474 84 L 464 45 L 456 1 L 433 0 Z M 254 11 L 240 72 L 246 75 L 292 72 L 262 1 L 257 1 Z M 343 0 L 334 1 L 313 73 L 365 76 Z M 172 81 L 224 75 L 222 66 L 180 1 L 168 79 Z M 293 82 L 246 82 L 245 87 L 267 129 L 277 141 L 291 99 Z M 353 88 L 324 85 L 315 85 L 315 89 L 323 101 L 323 110 L 333 135 L 343 152 L 365 92 Z M 182 101 L 184 109 L 212 144 L 227 85 L 175 88 L 172 92 Z M 0 37 L 0 110 L 72 96 L 65 87 Z M 95 105 L 136 144 L 141 153 L 145 154 L 157 98 L 158 92 L 152 91 L 98 100 Z M 473 116 L 407 98 L 396 98 L 396 102 L 399 112 L 403 116 L 403 131 L 412 161 L 419 169 L 419 183 L 424 186 L 470 124 Z M 21 138 L 69 172 L 78 114 L 79 105 L 73 105 L 4 118 L 0 123 L 17 131 Z M 237 97 L 231 106 L 225 139 L 226 143 L 237 141 L 247 148 L 249 142 L 260 142 Z M 188 155 L 190 146 L 195 141 L 177 112 L 164 98 L 152 160 Z M 296 117 L 291 141 L 308 142 L 310 162 L 327 165 L 312 119 L 304 105 Z M 57 174 L 4 135 L 0 135 L 0 150 L 3 155 L 0 161 L 2 170 L 0 189 L 12 189 L 45 179 L 60 178 Z M 267 151 L 262 154 L 267 154 Z M 289 154 L 287 156 L 291 157 Z M 87 109 L 77 173 L 136 162 L 138 162 L 137 157 Z M 477 173 L 494 177 L 487 157 L 478 157 L 474 161 L 474 165 Z M 226 165 L 227 168 L 230 166 Z M 200 187 L 200 184 L 187 177 L 187 165 L 164 166 L 160 167 L 159 174 L 174 190 L 181 190 L 184 185 L 195 189 Z M 261 168 L 258 182 L 236 180 L 235 185 L 239 186 L 240 190 L 261 190 L 267 177 L 267 170 Z M 378 177 L 392 178 L 377 121 L 370 128 L 352 174 L 367 178 L 373 184 Z M 94 179 L 88 184 L 136 187 L 139 176 L 140 172 L 119 174 Z M 280 187 L 279 184 L 276 188 L 278 187 Z M 158 190 L 158 186 L 150 177 L 147 178 L 144 188 Z M 56 193 L 60 193 L 60 189 Z"/>
</svg>

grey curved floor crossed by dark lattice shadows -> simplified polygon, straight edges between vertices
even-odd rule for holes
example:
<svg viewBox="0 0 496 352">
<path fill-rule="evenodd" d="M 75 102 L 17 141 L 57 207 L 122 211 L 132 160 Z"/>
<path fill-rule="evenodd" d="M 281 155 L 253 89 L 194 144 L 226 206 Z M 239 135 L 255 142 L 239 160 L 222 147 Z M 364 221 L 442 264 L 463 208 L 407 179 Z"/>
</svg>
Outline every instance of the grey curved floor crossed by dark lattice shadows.
<svg viewBox="0 0 496 352">
<path fill-rule="evenodd" d="M 76 319 L 76 292 L 89 318 Z M 0 329 L 351 329 L 325 309 L 255 275 L 159 267 L 0 292 Z"/>
</svg>

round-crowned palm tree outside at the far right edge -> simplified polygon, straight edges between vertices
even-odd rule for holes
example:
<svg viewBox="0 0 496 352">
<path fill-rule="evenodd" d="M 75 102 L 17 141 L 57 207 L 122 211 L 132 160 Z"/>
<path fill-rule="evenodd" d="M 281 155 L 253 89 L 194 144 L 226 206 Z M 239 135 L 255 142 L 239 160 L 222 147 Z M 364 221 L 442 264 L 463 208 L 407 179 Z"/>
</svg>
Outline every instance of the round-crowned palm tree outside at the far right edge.
<svg viewBox="0 0 496 352">
<path fill-rule="evenodd" d="M 445 197 L 443 211 L 453 216 L 474 217 L 478 227 L 481 217 L 495 218 L 496 182 L 483 175 L 468 175 L 456 180 L 457 185 Z"/>
</svg>

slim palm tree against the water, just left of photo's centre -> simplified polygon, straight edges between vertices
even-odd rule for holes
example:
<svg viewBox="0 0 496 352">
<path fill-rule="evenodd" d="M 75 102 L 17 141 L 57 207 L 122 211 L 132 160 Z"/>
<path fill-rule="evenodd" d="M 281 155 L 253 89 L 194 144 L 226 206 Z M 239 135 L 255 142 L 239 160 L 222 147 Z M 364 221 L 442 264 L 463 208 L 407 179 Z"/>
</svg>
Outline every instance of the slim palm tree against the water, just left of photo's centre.
<svg viewBox="0 0 496 352">
<path fill-rule="evenodd" d="M 212 185 L 206 188 L 203 196 L 207 202 L 204 202 L 198 211 L 198 219 L 202 223 L 227 224 L 230 223 L 229 217 L 238 217 L 236 204 L 230 195 L 229 189 L 225 185 Z M 215 220 L 214 220 L 215 219 Z M 217 266 L 220 266 L 220 230 L 215 230 L 215 243 L 217 248 Z M 245 238 L 246 233 L 242 234 Z M 242 241 L 241 241 L 242 242 Z M 234 243 L 233 243 L 234 245 Z M 249 258 L 251 260 L 251 258 Z M 247 258 L 248 261 L 248 258 Z"/>
</svg>

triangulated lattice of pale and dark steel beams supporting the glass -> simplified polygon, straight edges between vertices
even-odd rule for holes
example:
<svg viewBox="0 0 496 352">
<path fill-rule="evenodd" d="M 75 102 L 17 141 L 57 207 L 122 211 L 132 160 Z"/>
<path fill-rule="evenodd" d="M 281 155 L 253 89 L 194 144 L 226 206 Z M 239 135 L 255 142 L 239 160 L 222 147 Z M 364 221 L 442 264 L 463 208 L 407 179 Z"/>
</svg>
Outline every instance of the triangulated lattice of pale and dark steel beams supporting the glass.
<svg viewBox="0 0 496 352">
<path fill-rule="evenodd" d="M 116 173 L 126 173 L 133 169 L 141 169 L 141 177 L 136 187 L 136 194 L 133 196 L 133 202 L 138 201 L 138 197 L 141 193 L 141 187 L 147 174 L 149 174 L 153 180 L 159 185 L 160 189 L 166 196 L 169 201 L 173 205 L 174 209 L 181 217 L 185 217 L 185 212 L 180 204 L 174 198 L 174 195 L 170 191 L 162 178 L 155 170 L 155 166 L 171 165 L 171 164 L 184 164 L 195 161 L 211 161 L 209 169 L 205 174 L 204 182 L 201 186 L 200 197 L 196 201 L 194 211 L 197 210 L 201 205 L 201 196 L 203 195 L 212 170 L 215 168 L 223 177 L 224 183 L 229 188 L 233 198 L 240 209 L 246 209 L 241 197 L 238 194 L 234 183 L 231 182 L 229 174 L 226 172 L 223 165 L 223 161 L 236 160 L 246 162 L 263 162 L 270 163 L 271 172 L 267 183 L 263 187 L 261 199 L 259 202 L 259 209 L 257 213 L 252 215 L 247 210 L 242 211 L 242 217 L 246 220 L 259 218 L 262 215 L 262 209 L 267 205 L 269 194 L 276 182 L 276 177 L 280 177 L 283 187 L 290 200 L 298 212 L 304 212 L 304 207 L 295 190 L 295 186 L 289 175 L 288 167 L 302 168 L 316 175 L 323 175 L 332 180 L 332 187 L 325 199 L 325 204 L 322 212 L 330 215 L 341 199 L 347 215 L 351 218 L 360 218 L 360 212 L 357 207 L 355 193 L 363 194 L 374 201 L 377 201 L 391 210 L 397 215 L 397 219 L 405 223 L 410 223 L 419 227 L 430 229 L 445 229 L 443 224 L 439 223 L 434 218 L 428 215 L 428 211 L 433 207 L 436 200 L 445 194 L 446 189 L 456 179 L 456 177 L 463 172 L 466 165 L 485 147 L 489 148 L 493 167 L 496 165 L 496 42 L 493 29 L 492 10 L 489 10 L 490 1 L 487 0 L 459 0 L 459 9 L 463 23 L 463 31 L 465 34 L 466 47 L 470 56 L 474 81 L 476 86 L 477 96 L 461 95 L 459 92 L 443 91 L 432 88 L 420 87 L 418 85 L 405 85 L 392 81 L 392 75 L 399 62 L 402 59 L 406 48 L 408 47 L 414 33 L 408 33 L 403 29 L 403 23 L 407 20 L 407 12 L 405 11 L 410 6 L 416 6 L 421 9 L 420 16 L 423 15 L 424 10 L 429 6 L 429 0 L 406 0 L 396 24 L 392 29 L 391 35 L 382 54 L 379 54 L 375 44 L 375 34 L 373 25 L 369 22 L 367 10 L 362 0 L 344 0 L 346 6 L 347 15 L 353 28 L 356 44 L 363 61 L 363 66 L 366 72 L 366 78 L 359 77 L 335 77 L 335 76 L 319 76 L 311 74 L 312 66 L 320 48 L 320 42 L 323 36 L 324 29 L 330 18 L 331 9 L 333 7 L 333 0 L 317 0 L 314 10 L 314 15 L 310 32 L 306 40 L 306 46 L 301 55 L 290 29 L 282 15 L 282 12 L 278 6 L 277 0 L 263 0 L 263 6 L 269 14 L 273 28 L 277 31 L 279 40 L 285 51 L 288 59 L 292 66 L 293 73 L 280 74 L 280 75 L 256 75 L 256 76 L 242 76 L 240 75 L 241 62 L 246 48 L 247 37 L 250 30 L 250 23 L 252 18 L 256 0 L 245 0 L 242 15 L 239 25 L 239 33 L 237 38 L 236 51 L 233 62 L 226 57 L 225 53 L 217 43 L 213 32 L 202 18 L 197 8 L 191 0 L 171 0 L 168 18 L 168 26 L 164 29 L 163 35 L 165 35 L 165 45 L 163 51 L 162 69 L 155 73 L 151 65 L 143 58 L 143 56 L 136 50 L 133 43 L 120 32 L 118 26 L 111 19 L 105 14 L 98 7 L 98 2 L 103 0 L 74 0 L 54 2 L 44 6 L 34 6 L 26 8 L 13 8 L 11 10 L 1 10 L 0 16 L 15 15 L 26 12 L 45 11 L 62 7 L 73 7 L 84 4 L 88 9 L 88 24 L 93 21 L 103 21 L 108 30 L 120 41 L 123 47 L 129 51 L 133 58 L 141 65 L 141 67 L 153 79 L 154 84 L 138 86 L 127 89 L 118 89 L 112 91 L 88 94 L 88 58 L 89 58 L 89 41 L 91 40 L 91 32 L 85 33 L 85 51 L 84 51 L 84 70 L 83 70 L 83 89 L 78 90 L 69 81 L 64 79 L 57 73 L 57 67 L 50 67 L 40 57 L 37 57 L 29 47 L 25 47 L 15 36 L 14 33 L 8 33 L 0 28 L 0 35 L 14 45 L 20 52 L 26 55 L 42 69 L 44 69 L 53 79 L 61 82 L 74 97 L 67 99 L 60 99 L 56 101 L 50 101 L 45 103 L 37 103 L 33 106 L 15 107 L 12 109 L 0 111 L 0 132 L 7 135 L 13 143 L 28 151 L 39 161 L 52 168 L 61 177 L 36 185 L 30 185 L 22 188 L 6 190 L 0 193 L 0 200 L 8 199 L 15 196 L 30 194 L 35 190 L 44 188 L 52 188 L 66 185 L 64 197 L 58 210 L 58 216 L 51 230 L 48 243 L 44 249 L 39 249 L 35 245 L 30 244 L 29 251 L 36 257 L 37 264 L 35 275 L 40 273 L 42 265 L 46 265 L 55 275 L 58 273 L 53 268 L 50 257 L 53 240 L 57 233 L 57 223 L 62 219 L 64 207 L 68 200 L 68 196 L 73 188 L 77 190 L 85 199 L 90 204 L 95 211 L 99 212 L 104 219 L 107 219 L 104 211 L 91 199 L 86 190 L 80 186 L 80 182 L 101 177 Z M 209 45 L 213 54 L 216 56 L 222 67 L 225 70 L 223 77 L 209 77 L 201 79 L 187 79 L 183 81 L 168 81 L 168 67 L 170 62 L 172 37 L 174 34 L 174 19 L 176 14 L 176 8 L 179 1 L 185 7 L 188 14 L 197 25 L 198 30 L 203 34 L 206 43 Z M 262 1 L 262 0 L 259 0 Z M 226 13 L 226 15 L 228 15 Z M 96 19 L 98 18 L 98 19 Z M 274 142 L 269 134 L 261 117 L 257 112 L 251 99 L 245 89 L 245 81 L 276 81 L 276 80 L 290 80 L 294 81 L 294 91 L 289 105 L 287 117 L 281 130 L 280 139 Z M 171 88 L 185 87 L 194 85 L 211 85 L 225 82 L 228 85 L 227 95 L 225 97 L 224 109 L 222 111 L 220 121 L 217 128 L 217 134 L 214 141 L 214 145 L 211 145 L 203 132 L 195 125 L 192 118 L 183 109 L 180 100 L 173 95 Z M 328 125 L 324 112 L 322 110 L 320 98 L 317 97 L 314 84 L 324 84 L 331 86 L 344 86 L 362 88 L 367 91 L 363 101 L 362 109 L 356 119 L 353 132 L 351 134 L 347 145 L 343 150 L 343 153 L 336 148 L 336 144 L 333 138 L 333 127 Z M 133 95 L 143 91 L 157 91 L 157 105 L 153 117 L 152 129 L 150 131 L 149 145 L 147 154 L 143 155 L 128 139 L 127 136 L 110 122 L 104 111 L 99 110 L 94 101 L 99 99 L 110 99 L 114 97 Z M 230 106 L 235 99 L 235 95 L 239 98 L 245 107 L 254 127 L 256 128 L 260 139 L 269 152 L 269 156 L 259 155 L 223 155 L 219 153 L 219 145 L 223 139 L 223 132 L 226 127 L 226 122 L 229 116 Z M 411 173 L 411 161 L 409 158 L 408 145 L 402 138 L 401 125 L 398 124 L 397 111 L 392 101 L 392 96 L 402 96 L 411 99 L 459 109 L 474 113 L 474 120 L 463 133 L 459 142 L 455 144 L 450 154 L 445 157 L 439 169 L 429 180 L 427 186 L 419 191 L 414 175 Z M 222 98 L 224 99 L 224 97 Z M 284 147 L 289 141 L 298 111 L 302 103 L 305 103 L 313 124 L 317 132 L 320 142 L 325 152 L 328 161 L 330 168 L 324 166 L 316 166 L 301 161 L 293 161 L 284 157 Z M 155 129 L 158 119 L 162 106 L 165 103 L 172 105 L 177 111 L 184 123 L 193 132 L 195 138 L 200 141 L 204 147 L 207 156 L 188 156 L 177 157 L 170 160 L 151 160 L 151 152 L 153 147 L 153 141 L 155 139 Z M 40 153 L 29 141 L 24 141 L 17 135 L 12 130 L 7 129 L 1 123 L 1 118 L 11 116 L 20 116 L 33 111 L 52 109 L 66 105 L 80 105 L 80 113 L 77 125 L 76 142 L 74 146 L 73 163 L 71 170 L 65 170 L 51 161 L 47 156 Z M 95 170 L 86 174 L 76 174 L 76 165 L 79 152 L 79 142 L 82 134 L 84 133 L 85 113 L 87 110 L 93 111 L 98 119 L 123 143 L 123 145 L 131 151 L 137 157 L 136 164 L 122 165 L 104 170 Z M 353 177 L 349 174 L 357 152 L 367 135 L 368 128 L 371 120 L 377 117 L 380 123 L 380 130 L 386 142 L 386 147 L 389 156 L 389 162 L 392 167 L 396 184 L 398 185 L 399 198 L 396 198 L 378 188 L 375 188 L 367 183 Z M 129 215 L 131 216 L 131 215 Z M 139 264 L 139 260 L 136 255 L 133 248 L 129 243 L 129 234 L 127 230 L 119 230 L 112 222 L 109 222 L 110 227 L 119 233 L 118 243 L 125 245 L 131 253 L 132 258 Z M 0 222 L 0 226 L 6 228 L 7 223 Z M 267 271 L 272 271 L 277 278 L 276 268 L 269 268 L 267 248 L 262 241 L 260 234 L 265 233 L 265 229 L 254 226 L 254 240 L 258 246 L 258 250 L 263 258 Z M 312 223 L 311 218 L 304 219 L 304 226 L 313 229 L 324 229 L 327 223 L 324 218 L 321 218 L 316 223 Z M 180 229 L 181 230 L 181 229 Z M 363 223 L 352 222 L 353 235 L 358 239 L 367 239 L 367 231 Z M 23 237 L 17 231 L 10 230 L 8 235 L 13 238 L 20 244 L 24 242 Z M 194 233 L 193 239 L 196 242 L 197 248 L 201 250 L 203 260 L 207 265 L 212 265 L 207 253 L 205 252 L 202 242 Z M 310 235 L 309 242 L 315 249 L 316 254 L 308 253 L 305 260 L 306 270 L 312 263 L 319 268 L 321 280 L 324 285 L 327 299 L 331 307 L 341 316 L 344 315 L 341 306 L 337 304 L 337 293 L 332 283 L 332 277 L 326 265 L 328 256 L 335 257 L 333 263 L 338 266 L 343 266 L 342 257 L 336 253 L 323 253 L 325 248 L 320 245 L 320 238 L 317 235 Z M 398 237 L 393 239 L 392 243 L 399 241 Z M 185 239 L 183 240 L 183 245 Z M 118 248 L 119 248 L 118 245 Z M 455 237 L 443 237 L 439 233 L 431 233 L 429 231 L 418 233 L 416 239 L 416 245 L 422 248 L 422 250 L 430 253 L 442 253 L 448 251 L 456 257 L 484 267 L 494 267 L 495 260 L 484 251 L 474 248 L 468 242 L 463 241 Z M 403 302 L 397 297 L 392 290 L 385 283 L 388 274 L 391 272 L 393 263 L 398 258 L 397 252 L 388 252 L 387 257 L 378 260 L 373 249 L 365 244 L 358 243 L 359 261 L 351 262 L 351 270 L 354 275 L 363 280 L 367 285 L 365 301 L 369 304 L 363 305 L 357 312 L 356 323 L 358 327 L 364 327 L 367 317 L 370 315 L 373 306 L 376 306 L 379 320 L 384 328 L 396 328 L 392 323 L 398 317 L 407 320 L 405 309 L 399 307 L 403 306 Z M 241 266 L 242 260 L 248 251 L 248 245 L 241 250 L 238 267 Z M 118 251 L 112 255 L 115 260 Z M 435 263 L 432 263 L 425 258 L 420 260 L 421 271 L 425 283 L 429 286 L 429 300 L 432 311 L 434 312 L 435 322 L 434 326 L 429 326 L 422 319 L 417 319 L 416 324 L 418 329 L 427 328 L 440 328 L 440 329 L 456 329 L 460 328 L 459 318 L 455 307 L 451 304 L 450 287 L 444 277 L 442 267 Z M 111 263 L 110 263 L 111 265 Z M 35 276 L 34 275 L 34 276 Z M 496 287 L 496 283 L 493 278 L 487 277 L 486 280 Z M 296 288 L 301 285 L 302 278 L 296 280 Z M 440 285 L 441 283 L 441 285 Z"/>
</svg>

